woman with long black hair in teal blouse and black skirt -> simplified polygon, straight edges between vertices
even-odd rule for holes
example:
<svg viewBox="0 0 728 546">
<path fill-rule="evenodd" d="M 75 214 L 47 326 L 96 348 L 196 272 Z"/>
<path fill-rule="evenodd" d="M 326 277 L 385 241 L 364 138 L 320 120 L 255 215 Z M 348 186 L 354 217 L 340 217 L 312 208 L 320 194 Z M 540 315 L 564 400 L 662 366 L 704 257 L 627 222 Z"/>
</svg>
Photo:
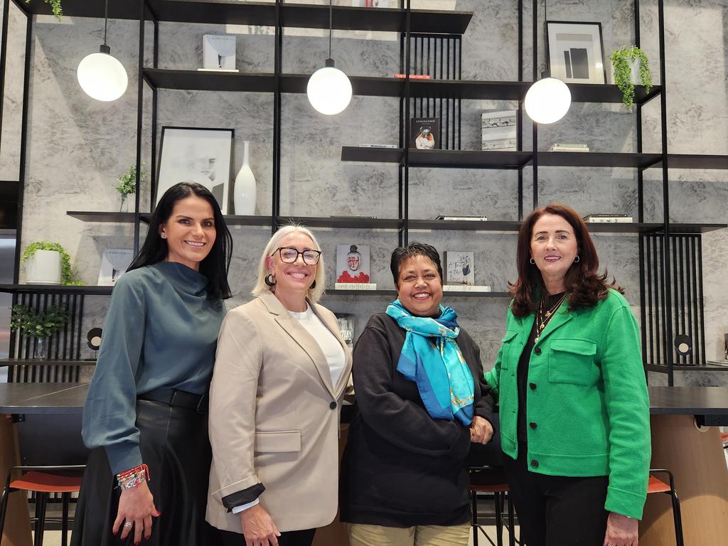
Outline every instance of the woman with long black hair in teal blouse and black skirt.
<svg viewBox="0 0 728 546">
<path fill-rule="evenodd" d="M 231 255 L 210 191 L 189 182 L 168 189 L 111 295 L 84 405 L 93 451 L 73 545 L 210 542 L 207 390 Z"/>
</svg>

